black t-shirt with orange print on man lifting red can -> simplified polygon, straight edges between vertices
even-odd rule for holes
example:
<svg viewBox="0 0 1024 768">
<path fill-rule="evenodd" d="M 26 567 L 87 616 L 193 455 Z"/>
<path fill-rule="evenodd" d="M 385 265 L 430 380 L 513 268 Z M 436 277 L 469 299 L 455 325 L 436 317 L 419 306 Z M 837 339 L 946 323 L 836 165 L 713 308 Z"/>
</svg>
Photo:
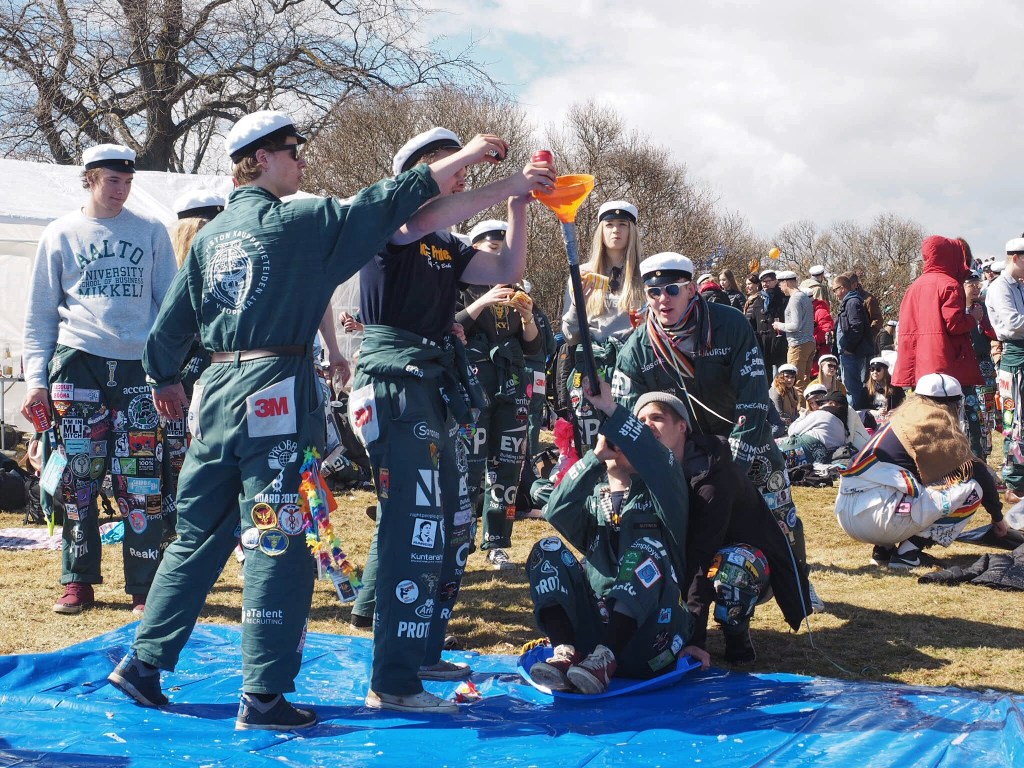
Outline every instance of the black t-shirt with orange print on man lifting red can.
<svg viewBox="0 0 1024 768">
<path fill-rule="evenodd" d="M 446 231 L 388 245 L 359 270 L 362 323 L 439 342 L 452 330 L 458 283 L 476 253 Z"/>
</svg>

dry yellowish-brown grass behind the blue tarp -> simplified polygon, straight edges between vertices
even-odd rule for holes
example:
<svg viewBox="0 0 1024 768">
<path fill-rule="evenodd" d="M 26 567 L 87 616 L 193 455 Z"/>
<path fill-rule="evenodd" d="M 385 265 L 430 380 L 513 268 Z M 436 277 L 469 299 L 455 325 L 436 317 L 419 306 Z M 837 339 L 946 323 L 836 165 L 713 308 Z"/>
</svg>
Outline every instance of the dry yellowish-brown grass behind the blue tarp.
<svg viewBox="0 0 1024 768">
<path fill-rule="evenodd" d="M 758 608 L 753 622 L 758 659 L 746 670 L 790 672 L 844 679 L 901 681 L 1024 691 L 1024 593 L 973 586 L 919 585 L 916 575 L 869 564 L 870 547 L 850 540 L 833 513 L 834 488 L 796 488 L 807 531 L 812 580 L 827 612 L 810 617 L 809 633 L 788 630 L 773 602 Z M 364 513 L 372 495 L 339 497 L 335 525 L 350 559 L 361 564 L 373 532 Z M 0 527 L 20 525 L 20 515 L 0 513 Z M 988 522 L 979 512 L 974 524 Z M 525 571 L 530 546 L 552 532 L 543 520 L 516 523 L 510 554 L 519 563 L 499 574 L 480 552 L 469 561 L 451 631 L 464 648 L 517 653 L 536 638 Z M 955 544 L 935 552 L 944 564 L 968 565 L 983 552 Z M 103 548 L 105 584 L 97 605 L 76 616 L 51 606 L 60 595 L 57 552 L 4 551 L 0 559 L 0 653 L 33 653 L 61 648 L 133 621 L 123 591 L 121 547 Z M 237 624 L 242 582 L 230 558 L 210 594 L 201 622 Z M 309 629 L 369 637 L 348 623 L 350 604 L 341 604 L 330 582 L 317 582 Z M 722 640 L 712 628 L 709 650 L 722 666 Z"/>
</svg>

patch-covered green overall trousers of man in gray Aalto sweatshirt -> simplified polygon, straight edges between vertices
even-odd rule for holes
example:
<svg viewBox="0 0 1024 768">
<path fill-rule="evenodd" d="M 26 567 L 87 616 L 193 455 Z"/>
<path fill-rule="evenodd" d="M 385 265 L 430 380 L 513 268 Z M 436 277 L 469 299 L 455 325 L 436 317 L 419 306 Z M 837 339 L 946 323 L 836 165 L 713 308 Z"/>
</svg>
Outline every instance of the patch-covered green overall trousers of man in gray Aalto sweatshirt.
<svg viewBox="0 0 1024 768">
<path fill-rule="evenodd" d="M 54 495 L 56 510 L 63 512 L 60 583 L 103 581 L 96 496 L 110 471 L 124 518 L 125 592 L 144 595 L 160 564 L 173 495 L 161 493 L 163 426 L 142 364 L 58 344 L 49 375 L 54 429 L 68 459 Z"/>
</svg>

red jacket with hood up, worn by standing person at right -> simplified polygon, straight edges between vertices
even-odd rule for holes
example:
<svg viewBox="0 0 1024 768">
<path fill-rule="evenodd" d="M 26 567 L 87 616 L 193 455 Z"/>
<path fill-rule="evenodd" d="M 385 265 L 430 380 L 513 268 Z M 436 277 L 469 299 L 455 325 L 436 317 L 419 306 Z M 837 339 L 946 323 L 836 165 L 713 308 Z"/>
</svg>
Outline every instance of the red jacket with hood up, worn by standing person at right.
<svg viewBox="0 0 1024 768">
<path fill-rule="evenodd" d="M 970 268 L 958 241 L 932 236 L 921 244 L 925 270 L 899 305 L 899 348 L 893 384 L 912 387 L 925 374 L 948 374 L 964 387 L 984 383 L 971 344 L 977 327 L 967 313 Z"/>
</svg>

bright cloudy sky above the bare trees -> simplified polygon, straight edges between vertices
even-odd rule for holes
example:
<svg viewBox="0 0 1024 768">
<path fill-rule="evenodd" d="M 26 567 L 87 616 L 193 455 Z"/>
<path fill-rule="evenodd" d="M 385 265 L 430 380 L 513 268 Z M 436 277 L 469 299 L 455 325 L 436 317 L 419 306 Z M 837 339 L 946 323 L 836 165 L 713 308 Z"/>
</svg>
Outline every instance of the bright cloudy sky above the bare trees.
<svg viewBox="0 0 1024 768">
<path fill-rule="evenodd" d="M 613 106 L 768 237 L 881 212 L 1024 230 L 1024 5 L 428 0 L 540 125 Z"/>
</svg>

